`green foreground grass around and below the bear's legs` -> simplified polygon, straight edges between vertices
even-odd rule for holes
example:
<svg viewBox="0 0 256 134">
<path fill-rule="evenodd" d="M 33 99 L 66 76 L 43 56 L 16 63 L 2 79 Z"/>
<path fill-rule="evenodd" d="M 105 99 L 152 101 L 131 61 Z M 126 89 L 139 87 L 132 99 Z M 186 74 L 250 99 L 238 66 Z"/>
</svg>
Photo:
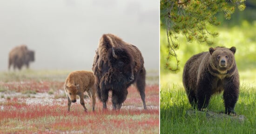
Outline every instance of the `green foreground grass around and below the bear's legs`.
<svg viewBox="0 0 256 134">
<path fill-rule="evenodd" d="M 236 113 L 246 117 L 244 122 L 231 119 L 209 120 L 204 115 L 189 116 L 191 106 L 187 95 L 178 85 L 161 86 L 160 131 L 161 134 L 255 134 L 256 133 L 256 91 L 255 87 L 241 87 L 236 103 Z M 224 110 L 222 95 L 214 95 L 209 110 Z"/>
</svg>

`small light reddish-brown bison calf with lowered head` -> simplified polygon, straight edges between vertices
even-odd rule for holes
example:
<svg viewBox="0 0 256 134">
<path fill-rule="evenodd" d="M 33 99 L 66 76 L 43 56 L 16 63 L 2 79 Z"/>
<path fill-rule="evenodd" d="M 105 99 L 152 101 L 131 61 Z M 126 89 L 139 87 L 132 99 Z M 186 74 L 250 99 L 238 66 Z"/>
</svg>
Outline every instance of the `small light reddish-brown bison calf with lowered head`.
<svg viewBox="0 0 256 134">
<path fill-rule="evenodd" d="M 86 92 L 89 98 L 93 101 L 92 109 L 94 111 L 96 102 L 96 87 L 95 77 L 92 72 L 89 71 L 74 71 L 68 74 L 64 84 L 65 93 L 67 95 L 67 111 L 70 110 L 71 102 L 76 102 L 76 95 L 80 98 L 80 104 L 83 106 L 85 112 L 87 108 L 84 104 L 84 92 Z"/>
</svg>

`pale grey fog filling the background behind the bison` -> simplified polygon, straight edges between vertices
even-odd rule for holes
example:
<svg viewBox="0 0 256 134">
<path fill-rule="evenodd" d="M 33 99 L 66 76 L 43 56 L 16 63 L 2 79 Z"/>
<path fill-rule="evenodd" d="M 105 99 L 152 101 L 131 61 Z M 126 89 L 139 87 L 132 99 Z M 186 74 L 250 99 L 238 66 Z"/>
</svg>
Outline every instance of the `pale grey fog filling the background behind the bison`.
<svg viewBox="0 0 256 134">
<path fill-rule="evenodd" d="M 21 44 L 35 51 L 31 69 L 91 70 L 104 33 L 137 46 L 146 69 L 159 69 L 158 0 L 1 0 L 0 71 Z"/>
</svg>

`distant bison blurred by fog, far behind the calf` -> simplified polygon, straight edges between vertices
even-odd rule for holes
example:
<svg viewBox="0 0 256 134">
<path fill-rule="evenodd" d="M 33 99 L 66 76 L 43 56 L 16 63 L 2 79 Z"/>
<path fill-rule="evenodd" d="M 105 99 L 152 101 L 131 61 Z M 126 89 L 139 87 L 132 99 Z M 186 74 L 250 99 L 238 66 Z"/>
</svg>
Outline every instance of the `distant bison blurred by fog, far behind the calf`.
<svg viewBox="0 0 256 134">
<path fill-rule="evenodd" d="M 26 45 L 14 47 L 9 53 L 8 69 L 11 65 L 13 69 L 18 67 L 20 70 L 23 65 L 29 68 L 29 62 L 34 61 L 34 51 L 28 50 Z"/>
</svg>

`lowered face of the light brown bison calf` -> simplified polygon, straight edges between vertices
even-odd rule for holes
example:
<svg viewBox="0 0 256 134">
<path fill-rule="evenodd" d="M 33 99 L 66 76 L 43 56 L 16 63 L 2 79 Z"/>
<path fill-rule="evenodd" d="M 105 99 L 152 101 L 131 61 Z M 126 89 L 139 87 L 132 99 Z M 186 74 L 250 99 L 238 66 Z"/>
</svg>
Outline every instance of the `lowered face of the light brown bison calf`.
<svg viewBox="0 0 256 134">
<path fill-rule="evenodd" d="M 71 102 L 76 102 L 76 95 L 79 90 L 79 85 L 71 85 L 71 86 L 65 86 L 66 87 L 66 94 L 68 98 L 71 100 Z"/>
</svg>

